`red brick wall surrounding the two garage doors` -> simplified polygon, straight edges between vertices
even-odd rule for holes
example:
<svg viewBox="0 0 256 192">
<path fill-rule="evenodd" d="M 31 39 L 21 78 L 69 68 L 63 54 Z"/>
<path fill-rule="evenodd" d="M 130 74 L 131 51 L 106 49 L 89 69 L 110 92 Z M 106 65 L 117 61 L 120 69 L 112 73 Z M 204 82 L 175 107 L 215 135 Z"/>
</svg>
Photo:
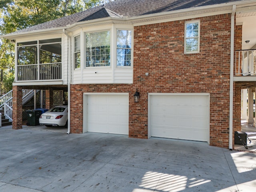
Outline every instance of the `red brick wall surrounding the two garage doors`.
<svg viewBox="0 0 256 192">
<path fill-rule="evenodd" d="M 228 148 L 231 15 L 196 19 L 198 54 L 184 54 L 185 20 L 134 27 L 134 83 L 72 85 L 71 132 L 82 132 L 83 92 L 129 92 L 129 136 L 136 138 L 148 138 L 149 92 L 210 93 L 210 145 Z"/>
</svg>

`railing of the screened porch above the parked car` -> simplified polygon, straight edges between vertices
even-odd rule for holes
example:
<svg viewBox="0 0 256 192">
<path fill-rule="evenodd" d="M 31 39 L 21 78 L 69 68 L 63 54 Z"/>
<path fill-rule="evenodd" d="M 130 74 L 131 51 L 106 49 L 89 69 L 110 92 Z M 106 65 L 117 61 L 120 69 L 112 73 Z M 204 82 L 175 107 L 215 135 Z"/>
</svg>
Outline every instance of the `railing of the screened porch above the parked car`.
<svg viewBox="0 0 256 192">
<path fill-rule="evenodd" d="M 60 80 L 61 63 L 18 65 L 17 81 Z"/>
</svg>

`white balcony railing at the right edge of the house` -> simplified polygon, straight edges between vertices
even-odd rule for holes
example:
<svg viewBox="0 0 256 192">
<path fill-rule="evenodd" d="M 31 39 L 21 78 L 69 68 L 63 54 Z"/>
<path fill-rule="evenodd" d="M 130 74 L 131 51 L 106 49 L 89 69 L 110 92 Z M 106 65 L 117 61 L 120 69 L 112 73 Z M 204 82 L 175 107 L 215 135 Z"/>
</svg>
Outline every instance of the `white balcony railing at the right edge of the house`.
<svg viewBox="0 0 256 192">
<path fill-rule="evenodd" d="M 235 76 L 256 76 L 256 49 L 236 51 Z"/>
</svg>

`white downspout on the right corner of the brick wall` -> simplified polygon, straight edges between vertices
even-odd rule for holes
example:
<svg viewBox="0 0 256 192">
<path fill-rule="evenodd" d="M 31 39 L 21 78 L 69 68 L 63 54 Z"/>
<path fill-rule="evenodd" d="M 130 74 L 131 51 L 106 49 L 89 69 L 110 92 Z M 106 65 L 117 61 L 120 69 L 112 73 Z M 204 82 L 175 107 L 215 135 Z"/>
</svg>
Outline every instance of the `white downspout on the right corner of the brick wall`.
<svg viewBox="0 0 256 192">
<path fill-rule="evenodd" d="M 231 14 L 230 40 L 230 94 L 229 94 L 229 150 L 233 150 L 233 89 L 234 89 L 234 30 L 236 5 L 233 5 Z"/>
</svg>

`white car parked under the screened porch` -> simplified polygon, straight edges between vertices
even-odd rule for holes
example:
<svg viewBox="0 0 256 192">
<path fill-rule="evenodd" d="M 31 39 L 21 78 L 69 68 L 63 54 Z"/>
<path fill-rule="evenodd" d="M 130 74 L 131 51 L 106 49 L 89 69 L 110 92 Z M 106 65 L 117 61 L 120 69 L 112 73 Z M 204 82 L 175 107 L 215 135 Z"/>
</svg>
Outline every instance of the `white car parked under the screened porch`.
<svg viewBox="0 0 256 192">
<path fill-rule="evenodd" d="M 51 108 L 47 112 L 41 114 L 39 124 L 50 126 L 65 126 L 68 125 L 68 106 L 60 105 Z"/>
</svg>

